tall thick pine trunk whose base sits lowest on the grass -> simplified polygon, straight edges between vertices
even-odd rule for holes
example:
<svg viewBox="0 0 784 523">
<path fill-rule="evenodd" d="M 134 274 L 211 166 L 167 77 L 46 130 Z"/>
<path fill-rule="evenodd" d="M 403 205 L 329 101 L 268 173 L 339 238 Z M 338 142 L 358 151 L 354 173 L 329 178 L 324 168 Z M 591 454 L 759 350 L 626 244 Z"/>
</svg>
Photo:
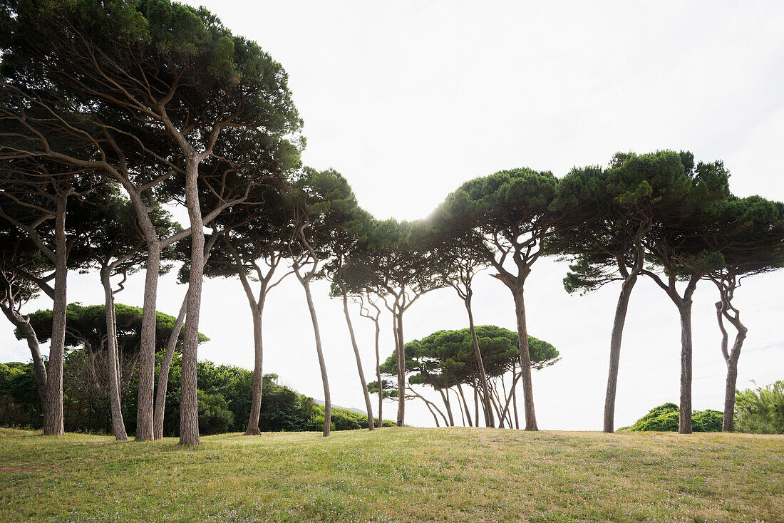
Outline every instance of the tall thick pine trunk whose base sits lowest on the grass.
<svg viewBox="0 0 784 523">
<path fill-rule="evenodd" d="M 191 220 L 191 274 L 188 280 L 187 320 L 183 336 L 182 388 L 180 390 L 180 445 L 198 445 L 197 357 L 201 284 L 204 280 L 204 221 L 198 197 L 198 162 L 187 158 L 185 198 Z"/>
</svg>

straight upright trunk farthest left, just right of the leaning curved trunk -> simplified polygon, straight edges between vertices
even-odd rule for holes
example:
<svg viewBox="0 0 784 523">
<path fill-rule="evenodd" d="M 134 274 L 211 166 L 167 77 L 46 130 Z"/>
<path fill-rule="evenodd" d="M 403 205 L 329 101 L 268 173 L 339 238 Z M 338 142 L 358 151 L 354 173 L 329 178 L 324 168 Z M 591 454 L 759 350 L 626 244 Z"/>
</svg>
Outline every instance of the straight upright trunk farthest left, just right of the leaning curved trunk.
<svg viewBox="0 0 784 523">
<path fill-rule="evenodd" d="M 49 369 L 46 375 L 46 399 L 44 409 L 44 434 L 65 434 L 63 420 L 63 358 L 65 355 L 65 318 L 68 306 L 66 281 L 67 242 L 65 237 L 66 198 L 57 200 L 55 217 L 55 276 L 54 303 L 52 306 L 52 341 L 49 344 Z"/>
</svg>

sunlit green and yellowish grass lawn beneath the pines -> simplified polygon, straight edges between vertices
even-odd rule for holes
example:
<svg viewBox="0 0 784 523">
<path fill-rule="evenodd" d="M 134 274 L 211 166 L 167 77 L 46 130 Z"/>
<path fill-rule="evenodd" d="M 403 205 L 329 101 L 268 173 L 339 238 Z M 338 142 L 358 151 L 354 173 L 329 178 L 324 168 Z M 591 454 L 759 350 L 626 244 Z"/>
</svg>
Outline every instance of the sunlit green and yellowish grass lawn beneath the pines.
<svg viewBox="0 0 784 523">
<path fill-rule="evenodd" d="M 0 429 L 0 521 L 784 521 L 784 438 L 386 428 Z"/>
</svg>

